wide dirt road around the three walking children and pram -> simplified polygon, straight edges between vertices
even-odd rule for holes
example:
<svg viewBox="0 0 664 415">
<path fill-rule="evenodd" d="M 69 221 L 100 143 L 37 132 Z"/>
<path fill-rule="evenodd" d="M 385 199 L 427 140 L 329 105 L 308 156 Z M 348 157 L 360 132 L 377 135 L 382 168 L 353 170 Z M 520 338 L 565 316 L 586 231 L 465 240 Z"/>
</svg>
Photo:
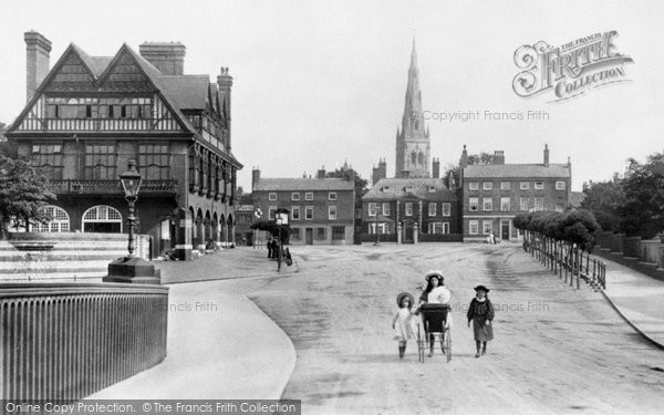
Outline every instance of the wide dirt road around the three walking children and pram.
<svg viewBox="0 0 664 415">
<path fill-rule="evenodd" d="M 598 292 L 569 288 L 518 246 L 419 245 L 293 249 L 300 272 L 249 293 L 298 353 L 284 398 L 303 414 L 662 413 L 664 352 Z M 398 292 L 444 270 L 453 292 L 454 359 L 400 361 L 391 321 Z M 496 340 L 475 359 L 465 311 L 491 288 Z"/>
</svg>

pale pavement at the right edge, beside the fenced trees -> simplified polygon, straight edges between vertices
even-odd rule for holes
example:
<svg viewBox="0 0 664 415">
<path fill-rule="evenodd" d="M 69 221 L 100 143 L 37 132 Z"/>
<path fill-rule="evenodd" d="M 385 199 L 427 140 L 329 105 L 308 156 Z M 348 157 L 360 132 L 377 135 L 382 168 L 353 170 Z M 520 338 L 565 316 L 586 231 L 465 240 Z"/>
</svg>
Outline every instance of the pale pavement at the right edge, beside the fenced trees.
<svg viewBox="0 0 664 415">
<path fill-rule="evenodd" d="M 606 300 L 637 332 L 664 349 L 664 281 L 598 259 L 606 263 Z"/>
</svg>

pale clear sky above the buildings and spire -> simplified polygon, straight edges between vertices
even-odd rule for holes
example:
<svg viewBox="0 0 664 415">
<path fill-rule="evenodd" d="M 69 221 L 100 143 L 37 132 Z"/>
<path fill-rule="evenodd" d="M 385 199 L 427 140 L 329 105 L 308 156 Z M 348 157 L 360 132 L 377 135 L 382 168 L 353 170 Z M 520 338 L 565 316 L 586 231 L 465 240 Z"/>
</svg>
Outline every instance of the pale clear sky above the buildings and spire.
<svg viewBox="0 0 664 415">
<path fill-rule="evenodd" d="M 506 163 L 572 162 L 572 189 L 611 178 L 629 157 L 664 149 L 664 42 L 661 1 L 0 1 L 0 122 L 25 104 L 23 33 L 52 42 L 51 64 L 73 42 L 90 55 L 123 43 L 179 41 L 185 73 L 216 80 L 228 66 L 232 153 L 245 165 L 238 185 L 261 177 L 315 175 L 347 160 L 371 180 L 380 158 L 394 175 L 395 134 L 413 39 L 427 116 L 477 113 L 476 120 L 425 120 L 430 154 L 445 168 L 469 153 L 504 151 Z M 552 102 L 522 97 L 515 51 L 616 31 L 632 58 L 623 80 Z M 528 112 L 546 113 L 528 120 Z M 487 113 L 523 120 L 487 118 Z M 442 116 L 442 115 L 440 115 Z M 512 115 L 513 117 L 515 115 Z"/>
</svg>

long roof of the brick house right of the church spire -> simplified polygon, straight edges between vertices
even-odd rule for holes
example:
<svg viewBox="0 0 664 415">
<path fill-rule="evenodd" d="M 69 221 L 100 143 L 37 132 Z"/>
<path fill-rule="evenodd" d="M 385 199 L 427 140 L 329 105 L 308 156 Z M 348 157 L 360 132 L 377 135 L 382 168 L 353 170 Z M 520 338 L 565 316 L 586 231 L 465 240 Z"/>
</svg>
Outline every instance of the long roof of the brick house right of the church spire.
<svg viewBox="0 0 664 415">
<path fill-rule="evenodd" d="M 567 164 L 489 164 L 471 165 L 464 168 L 464 178 L 549 178 L 571 177 Z"/>
</svg>

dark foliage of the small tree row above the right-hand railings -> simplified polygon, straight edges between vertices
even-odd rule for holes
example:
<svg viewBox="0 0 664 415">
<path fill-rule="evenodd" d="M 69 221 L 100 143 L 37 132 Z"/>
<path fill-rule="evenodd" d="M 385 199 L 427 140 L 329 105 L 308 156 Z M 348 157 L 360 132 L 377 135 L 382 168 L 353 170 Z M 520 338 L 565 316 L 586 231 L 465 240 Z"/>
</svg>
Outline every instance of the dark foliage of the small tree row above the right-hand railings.
<svg viewBox="0 0 664 415">
<path fill-rule="evenodd" d="M 513 225 L 517 229 L 577 243 L 579 248 L 589 252 L 595 245 L 595 232 L 602 229 L 592 212 L 588 210 L 519 214 L 515 217 Z"/>
</svg>

